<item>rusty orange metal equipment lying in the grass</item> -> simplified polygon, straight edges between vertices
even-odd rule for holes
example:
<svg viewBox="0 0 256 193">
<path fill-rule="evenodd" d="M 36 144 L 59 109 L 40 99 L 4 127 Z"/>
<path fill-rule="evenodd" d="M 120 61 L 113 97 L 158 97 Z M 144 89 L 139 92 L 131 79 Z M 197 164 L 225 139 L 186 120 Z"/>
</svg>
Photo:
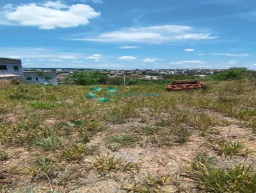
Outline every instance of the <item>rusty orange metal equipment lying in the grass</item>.
<svg viewBox="0 0 256 193">
<path fill-rule="evenodd" d="M 182 89 L 204 89 L 204 84 L 199 81 L 173 81 L 167 87 L 168 91 L 179 91 Z"/>
</svg>

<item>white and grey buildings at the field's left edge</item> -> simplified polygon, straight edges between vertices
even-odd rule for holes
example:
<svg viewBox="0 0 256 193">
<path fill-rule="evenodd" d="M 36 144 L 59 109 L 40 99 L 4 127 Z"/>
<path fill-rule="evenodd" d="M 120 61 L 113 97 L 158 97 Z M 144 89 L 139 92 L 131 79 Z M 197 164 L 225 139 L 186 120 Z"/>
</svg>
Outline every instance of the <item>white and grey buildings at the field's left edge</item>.
<svg viewBox="0 0 256 193">
<path fill-rule="evenodd" d="M 31 84 L 58 85 L 54 71 L 23 71 L 20 59 L 0 58 L 0 79 L 19 79 Z"/>
</svg>

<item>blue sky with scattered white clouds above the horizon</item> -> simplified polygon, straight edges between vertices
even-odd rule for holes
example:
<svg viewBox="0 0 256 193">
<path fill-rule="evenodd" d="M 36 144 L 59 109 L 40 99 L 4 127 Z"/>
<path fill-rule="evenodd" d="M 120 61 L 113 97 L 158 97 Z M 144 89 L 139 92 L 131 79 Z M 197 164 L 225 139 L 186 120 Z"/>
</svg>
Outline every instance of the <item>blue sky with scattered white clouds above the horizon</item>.
<svg viewBox="0 0 256 193">
<path fill-rule="evenodd" d="M 24 67 L 256 69 L 255 0 L 1 0 Z"/>
</svg>

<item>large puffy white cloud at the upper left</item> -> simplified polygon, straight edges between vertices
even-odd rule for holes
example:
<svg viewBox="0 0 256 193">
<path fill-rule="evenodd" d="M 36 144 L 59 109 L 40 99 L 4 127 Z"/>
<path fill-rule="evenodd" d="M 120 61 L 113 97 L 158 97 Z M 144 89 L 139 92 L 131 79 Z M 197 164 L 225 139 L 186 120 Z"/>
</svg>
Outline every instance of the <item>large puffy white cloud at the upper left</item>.
<svg viewBox="0 0 256 193">
<path fill-rule="evenodd" d="M 3 6 L 0 24 L 34 26 L 39 29 L 56 29 L 86 25 L 90 19 L 98 17 L 99 12 L 86 4 L 67 5 L 61 1 L 29 3 Z"/>
</svg>

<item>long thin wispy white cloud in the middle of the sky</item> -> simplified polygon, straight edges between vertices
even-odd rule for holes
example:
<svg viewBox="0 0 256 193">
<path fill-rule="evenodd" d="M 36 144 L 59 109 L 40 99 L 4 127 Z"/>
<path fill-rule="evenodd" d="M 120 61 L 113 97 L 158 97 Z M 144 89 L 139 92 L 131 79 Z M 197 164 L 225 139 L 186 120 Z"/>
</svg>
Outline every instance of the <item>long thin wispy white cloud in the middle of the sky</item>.
<svg viewBox="0 0 256 193">
<path fill-rule="evenodd" d="M 102 33 L 95 38 L 73 38 L 72 40 L 93 42 L 141 42 L 141 43 L 167 43 L 182 42 L 184 40 L 215 40 L 218 36 L 210 33 L 198 32 L 190 26 L 150 26 L 130 27 Z"/>
</svg>

